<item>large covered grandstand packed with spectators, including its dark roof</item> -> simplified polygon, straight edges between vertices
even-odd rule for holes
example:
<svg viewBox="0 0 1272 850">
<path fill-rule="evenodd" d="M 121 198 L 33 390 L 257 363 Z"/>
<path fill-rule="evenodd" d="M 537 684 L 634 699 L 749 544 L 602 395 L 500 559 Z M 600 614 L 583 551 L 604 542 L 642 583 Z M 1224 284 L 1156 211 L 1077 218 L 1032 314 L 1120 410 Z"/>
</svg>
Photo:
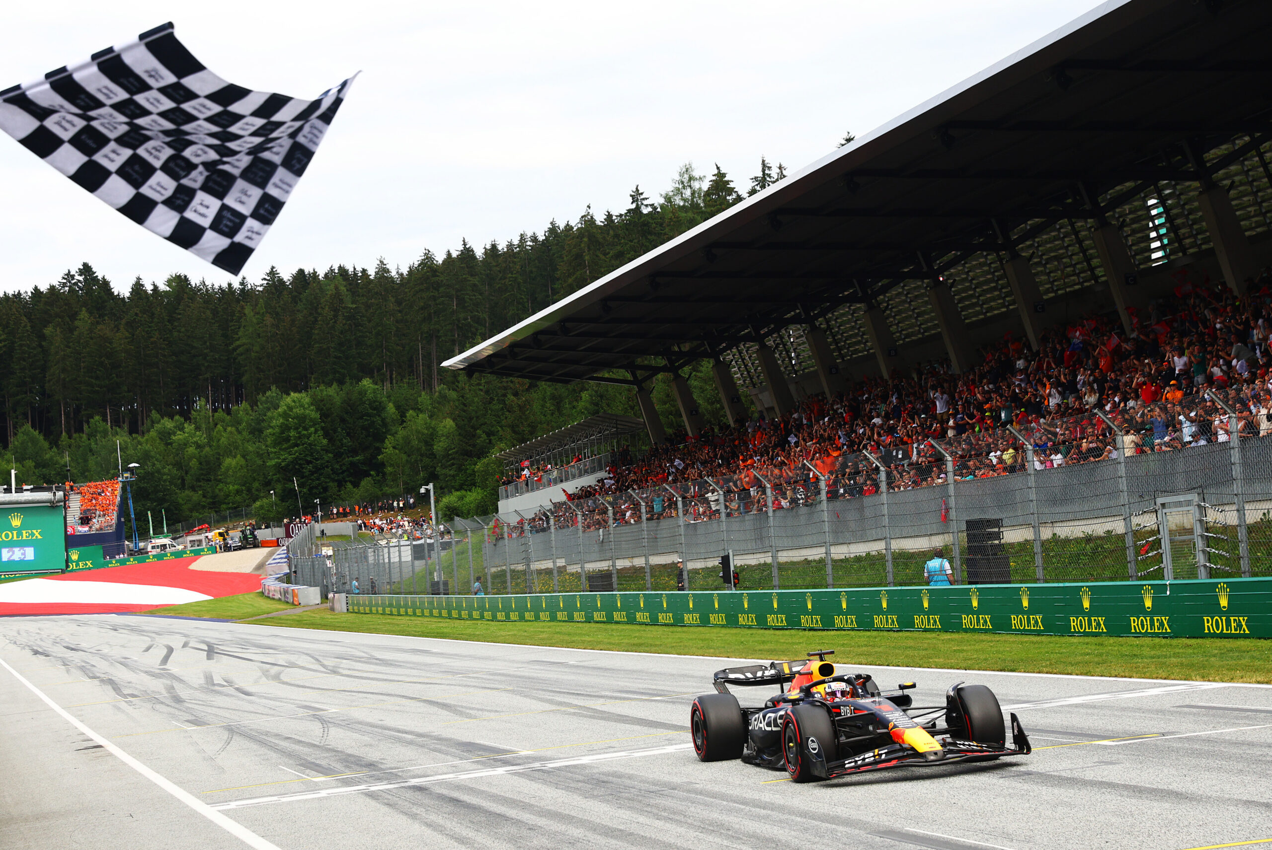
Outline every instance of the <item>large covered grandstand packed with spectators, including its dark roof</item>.
<svg viewBox="0 0 1272 850">
<path fill-rule="evenodd" d="M 1231 447 L 1231 474 L 1189 498 L 1216 529 L 1233 526 L 1227 568 L 1272 568 L 1262 548 L 1252 568 L 1234 440 L 1272 435 L 1272 281 L 1259 271 L 1272 259 L 1272 142 L 1258 95 L 1272 74 L 1269 30 L 1272 6 L 1261 3 L 1100 6 L 448 361 L 632 386 L 654 446 L 609 484 L 496 521 L 500 537 L 576 527 L 585 563 L 585 530 L 771 521 L 931 487 L 948 492 L 940 523 L 957 526 L 955 482 L 1023 473 L 1029 496 L 1006 482 L 976 492 L 986 504 L 997 490 L 1037 501 L 1037 476 L 1038 488 L 1068 482 L 1081 501 L 1094 496 L 1072 489 L 1081 475 L 1042 470 L 1104 461 L 1121 470 L 1118 509 L 1067 506 L 1076 525 L 1049 530 L 1124 532 L 1113 554 L 1135 577 L 1136 553 L 1154 553 L 1132 508 L 1203 489 L 1198 464 L 1226 469 Z M 728 429 L 706 428 L 681 374 L 703 358 Z M 649 395 L 663 374 L 682 414 L 670 436 Z M 1192 454 L 1164 459 L 1182 449 Z M 1216 507 L 1219 490 L 1230 507 Z M 993 522 L 1013 513 L 995 511 Z M 1037 511 L 1028 523 L 1007 521 L 1004 534 L 1033 537 L 1042 579 Z M 822 581 L 834 586 L 826 525 Z M 941 525 L 923 527 L 911 529 L 916 551 L 941 537 Z M 1194 574 L 1210 568 L 1196 543 L 1206 534 L 1194 535 Z M 958 562 L 960 535 L 944 540 Z M 771 522 L 767 543 L 776 587 Z M 667 551 L 689 557 L 683 531 Z M 1170 551 L 1156 554 L 1169 572 Z"/>
</svg>

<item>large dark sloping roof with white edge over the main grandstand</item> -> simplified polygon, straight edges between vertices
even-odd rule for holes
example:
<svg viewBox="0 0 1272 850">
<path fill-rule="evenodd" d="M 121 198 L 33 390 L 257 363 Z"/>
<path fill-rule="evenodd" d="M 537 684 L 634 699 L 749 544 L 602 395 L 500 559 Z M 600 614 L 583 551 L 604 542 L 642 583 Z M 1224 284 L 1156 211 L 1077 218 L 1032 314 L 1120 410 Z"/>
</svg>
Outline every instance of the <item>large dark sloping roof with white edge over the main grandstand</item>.
<svg viewBox="0 0 1272 850">
<path fill-rule="evenodd" d="M 444 365 L 644 380 L 969 274 L 1057 226 L 1085 250 L 1079 230 L 1130 198 L 1266 141 L 1269 37 L 1259 0 L 1104 3 Z M 1086 267 L 1079 286 L 1098 280 Z M 1004 290 L 988 297 L 1010 304 Z M 986 296 L 960 296 L 974 318 L 968 297 Z"/>
</svg>

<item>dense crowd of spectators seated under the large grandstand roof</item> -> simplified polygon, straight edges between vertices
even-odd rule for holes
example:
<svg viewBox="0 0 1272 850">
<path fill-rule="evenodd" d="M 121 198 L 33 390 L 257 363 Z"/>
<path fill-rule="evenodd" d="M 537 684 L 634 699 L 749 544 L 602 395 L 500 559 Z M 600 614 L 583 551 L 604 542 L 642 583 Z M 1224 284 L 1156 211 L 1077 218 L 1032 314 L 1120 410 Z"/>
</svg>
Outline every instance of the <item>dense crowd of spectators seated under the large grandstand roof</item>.
<svg viewBox="0 0 1272 850">
<path fill-rule="evenodd" d="M 1114 460 L 1109 423 L 1128 454 L 1225 442 L 1213 396 L 1236 410 L 1241 437 L 1272 433 L 1272 271 L 1241 297 L 1180 272 L 1170 296 L 1130 314 L 1130 334 L 1116 313 L 1089 314 L 1044 332 L 1038 351 L 1009 334 L 960 375 L 927 363 L 805 398 L 780 419 L 673 435 L 504 530 L 546 530 L 550 515 L 599 530 L 611 511 L 614 525 L 640 522 L 642 503 L 649 520 L 782 509 L 819 498 L 823 476 L 832 499 L 932 487 L 948 482 L 946 454 L 957 480 L 1023 471 L 1030 455 L 1037 470 Z"/>
</svg>

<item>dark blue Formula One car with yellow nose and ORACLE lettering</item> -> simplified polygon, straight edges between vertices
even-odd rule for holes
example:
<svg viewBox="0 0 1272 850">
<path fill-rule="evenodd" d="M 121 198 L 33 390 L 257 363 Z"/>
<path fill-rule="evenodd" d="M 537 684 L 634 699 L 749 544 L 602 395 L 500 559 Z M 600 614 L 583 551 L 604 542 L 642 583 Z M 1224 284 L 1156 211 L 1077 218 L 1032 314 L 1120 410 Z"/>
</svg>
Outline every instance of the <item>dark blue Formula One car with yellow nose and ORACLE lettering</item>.
<svg viewBox="0 0 1272 850">
<path fill-rule="evenodd" d="M 701 761 L 742 759 L 781 769 L 798 783 L 904 765 L 945 765 L 1027 756 L 1029 738 L 1011 715 L 1006 746 L 1002 710 L 985 685 L 959 682 L 945 705 L 912 705 L 903 682 L 883 692 L 865 673 L 837 673 L 826 659 L 729 667 L 715 675 L 716 694 L 693 700 L 689 728 Z M 763 708 L 742 708 L 729 686 L 777 685 Z M 789 689 L 785 686 L 790 685 Z M 934 717 L 944 713 L 944 717 Z M 930 718 L 930 719 L 929 719 Z"/>
</svg>

